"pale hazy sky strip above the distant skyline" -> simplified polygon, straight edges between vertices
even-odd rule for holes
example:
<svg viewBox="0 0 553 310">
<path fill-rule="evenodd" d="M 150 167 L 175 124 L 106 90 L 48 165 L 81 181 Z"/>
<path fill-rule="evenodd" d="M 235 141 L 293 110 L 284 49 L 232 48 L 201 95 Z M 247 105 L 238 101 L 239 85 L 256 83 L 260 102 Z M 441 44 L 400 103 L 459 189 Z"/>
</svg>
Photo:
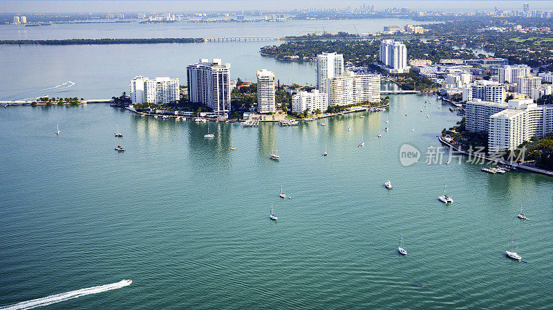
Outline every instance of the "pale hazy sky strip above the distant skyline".
<svg viewBox="0 0 553 310">
<path fill-rule="evenodd" d="M 553 10 L 553 1 L 464 1 L 464 0 L 425 0 L 425 1 L 351 1 L 351 0 L 188 0 L 188 1 L 3 1 L 0 0 L 0 12 L 205 12 L 236 10 L 279 10 L 281 8 L 328 8 L 359 6 L 363 3 L 374 4 L 377 10 L 396 6 L 412 10 L 443 10 L 448 12 L 493 10 L 494 6 L 502 10 L 522 10 L 524 2 L 530 3 L 531 10 Z"/>
</svg>

